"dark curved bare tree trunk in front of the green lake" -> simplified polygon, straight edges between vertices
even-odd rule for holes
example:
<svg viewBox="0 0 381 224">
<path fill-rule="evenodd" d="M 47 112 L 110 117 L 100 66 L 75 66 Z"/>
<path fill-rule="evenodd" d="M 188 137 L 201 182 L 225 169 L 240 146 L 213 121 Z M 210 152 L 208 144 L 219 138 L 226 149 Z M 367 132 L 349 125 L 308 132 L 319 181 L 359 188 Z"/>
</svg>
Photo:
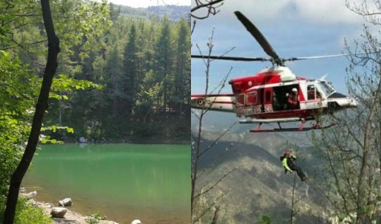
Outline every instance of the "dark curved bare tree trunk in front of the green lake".
<svg viewBox="0 0 381 224">
<path fill-rule="evenodd" d="M 42 119 L 45 110 L 48 108 L 48 98 L 53 76 L 57 69 L 57 55 L 60 52 L 60 41 L 54 31 L 53 20 L 50 11 L 49 0 L 41 0 L 42 17 L 48 38 L 48 57 L 46 61 L 45 72 L 43 74 L 40 96 L 36 104 L 36 111 L 33 116 L 32 128 L 30 131 L 28 143 L 19 165 L 11 177 L 9 186 L 7 204 L 4 214 L 4 224 L 13 224 L 16 212 L 16 204 L 19 196 L 19 190 L 22 178 L 24 177 L 33 155 L 36 151 L 37 143 L 41 132 Z"/>
</svg>

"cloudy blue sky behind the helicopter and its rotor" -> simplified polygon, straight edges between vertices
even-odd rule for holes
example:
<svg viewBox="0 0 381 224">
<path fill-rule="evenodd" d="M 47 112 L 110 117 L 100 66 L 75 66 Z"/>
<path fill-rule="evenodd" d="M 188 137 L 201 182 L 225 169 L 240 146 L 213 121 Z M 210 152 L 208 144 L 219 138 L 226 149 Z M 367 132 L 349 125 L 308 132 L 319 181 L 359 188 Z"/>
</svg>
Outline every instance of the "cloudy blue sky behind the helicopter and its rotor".
<svg viewBox="0 0 381 224">
<path fill-rule="evenodd" d="M 359 1 L 359 0 L 356 0 Z M 192 54 L 198 54 L 196 44 L 206 53 L 207 40 L 214 27 L 213 54 L 220 55 L 236 47 L 226 56 L 268 57 L 251 34 L 236 19 L 240 11 L 263 33 L 279 57 L 303 57 L 340 54 L 344 39 L 353 44 L 360 38 L 364 20 L 345 7 L 345 0 L 225 0 L 221 11 L 206 20 L 198 20 L 192 35 Z M 199 16 L 203 15 L 199 11 Z M 269 62 L 214 61 L 211 67 L 211 88 L 233 66 L 230 78 L 253 75 Z M 295 61 L 286 64 L 297 75 L 318 79 L 328 74 L 335 89 L 346 93 L 345 57 Z M 191 63 L 191 92 L 205 89 L 205 66 L 201 60 Z M 231 92 L 229 84 L 223 90 Z"/>
</svg>

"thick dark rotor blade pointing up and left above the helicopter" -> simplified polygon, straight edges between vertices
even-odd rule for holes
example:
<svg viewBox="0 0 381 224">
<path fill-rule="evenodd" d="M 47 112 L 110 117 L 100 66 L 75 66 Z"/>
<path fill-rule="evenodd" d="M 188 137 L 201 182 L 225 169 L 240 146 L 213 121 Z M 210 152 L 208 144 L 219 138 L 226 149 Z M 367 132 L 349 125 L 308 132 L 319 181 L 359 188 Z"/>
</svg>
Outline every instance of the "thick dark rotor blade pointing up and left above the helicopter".
<svg viewBox="0 0 381 224">
<path fill-rule="evenodd" d="M 238 20 L 240 20 L 242 24 L 246 27 L 249 33 L 255 38 L 255 40 L 258 41 L 258 43 L 261 45 L 266 54 L 274 58 L 274 61 L 278 61 L 279 56 L 275 53 L 273 47 L 266 40 L 263 34 L 258 30 L 258 28 L 256 28 L 254 24 L 250 20 L 248 20 L 241 12 L 235 11 L 234 14 L 235 16 L 237 16 Z"/>
</svg>

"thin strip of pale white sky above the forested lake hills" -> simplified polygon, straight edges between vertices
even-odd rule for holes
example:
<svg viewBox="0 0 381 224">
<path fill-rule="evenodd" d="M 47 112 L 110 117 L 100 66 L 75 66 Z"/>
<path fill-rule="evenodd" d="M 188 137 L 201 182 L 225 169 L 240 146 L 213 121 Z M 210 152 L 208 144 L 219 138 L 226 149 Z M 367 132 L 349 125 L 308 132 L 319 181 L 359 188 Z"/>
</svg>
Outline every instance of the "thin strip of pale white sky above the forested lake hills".
<svg viewBox="0 0 381 224">
<path fill-rule="evenodd" d="M 109 0 L 114 4 L 127 5 L 134 8 L 148 7 L 154 5 L 175 4 L 191 5 L 191 0 Z"/>
</svg>

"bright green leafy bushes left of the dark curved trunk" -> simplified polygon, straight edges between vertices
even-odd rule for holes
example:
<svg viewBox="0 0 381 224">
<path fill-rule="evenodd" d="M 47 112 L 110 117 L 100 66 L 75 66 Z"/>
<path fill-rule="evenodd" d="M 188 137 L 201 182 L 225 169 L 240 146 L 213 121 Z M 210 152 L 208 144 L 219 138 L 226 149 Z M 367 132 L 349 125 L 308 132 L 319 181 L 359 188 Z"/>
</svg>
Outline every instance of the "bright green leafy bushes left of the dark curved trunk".
<svg viewBox="0 0 381 224">
<path fill-rule="evenodd" d="M 38 81 L 22 65 L 6 53 L 0 52 L 0 195 L 7 190 L 9 178 L 16 168 L 33 112 Z"/>
</svg>

